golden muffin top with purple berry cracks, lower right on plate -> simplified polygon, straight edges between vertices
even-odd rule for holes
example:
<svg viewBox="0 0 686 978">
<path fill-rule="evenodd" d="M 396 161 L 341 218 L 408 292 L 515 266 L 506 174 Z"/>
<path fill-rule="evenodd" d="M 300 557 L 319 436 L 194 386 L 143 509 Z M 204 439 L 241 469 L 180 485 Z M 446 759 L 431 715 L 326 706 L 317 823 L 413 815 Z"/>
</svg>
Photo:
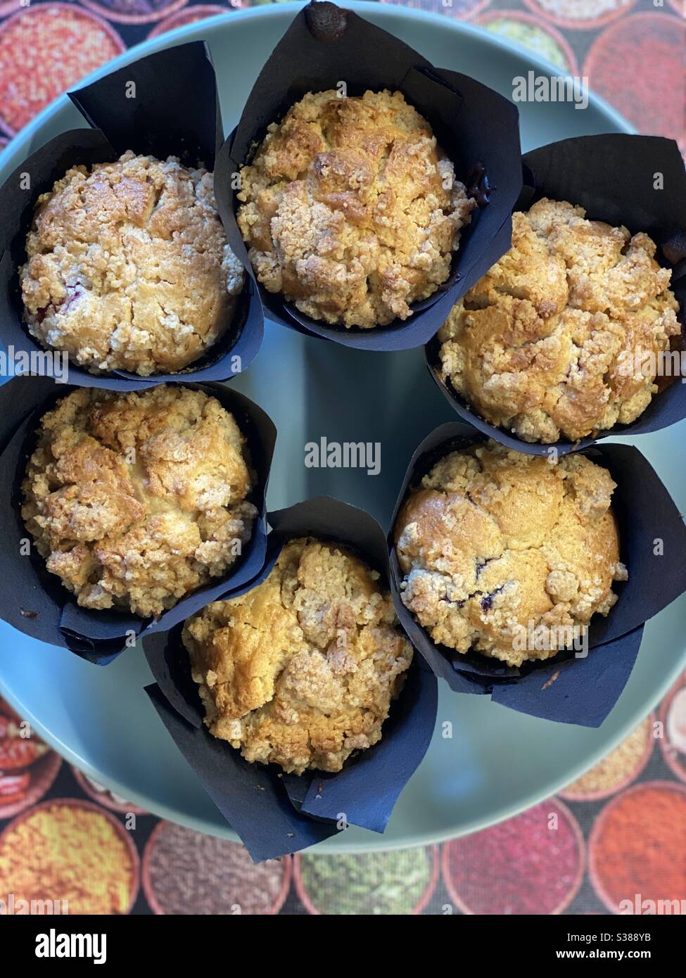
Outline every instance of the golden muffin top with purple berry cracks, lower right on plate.
<svg viewBox="0 0 686 978">
<path fill-rule="evenodd" d="M 450 453 L 395 522 L 403 604 L 456 652 L 512 666 L 555 655 L 593 614 L 608 614 L 613 581 L 627 579 L 615 488 L 581 455 L 551 465 L 494 441 Z M 529 623 L 549 647 L 531 647 Z"/>
</svg>

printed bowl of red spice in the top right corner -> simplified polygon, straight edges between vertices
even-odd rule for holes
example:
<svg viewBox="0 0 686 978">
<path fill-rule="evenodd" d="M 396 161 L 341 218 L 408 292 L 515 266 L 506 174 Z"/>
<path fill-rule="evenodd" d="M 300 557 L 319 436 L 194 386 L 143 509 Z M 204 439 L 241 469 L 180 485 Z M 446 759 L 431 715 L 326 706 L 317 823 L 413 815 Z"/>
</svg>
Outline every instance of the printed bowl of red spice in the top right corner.
<svg viewBox="0 0 686 978">
<path fill-rule="evenodd" d="M 683 137 L 684 22 L 632 14 L 604 30 L 586 56 L 590 86 L 637 129 Z"/>
</svg>

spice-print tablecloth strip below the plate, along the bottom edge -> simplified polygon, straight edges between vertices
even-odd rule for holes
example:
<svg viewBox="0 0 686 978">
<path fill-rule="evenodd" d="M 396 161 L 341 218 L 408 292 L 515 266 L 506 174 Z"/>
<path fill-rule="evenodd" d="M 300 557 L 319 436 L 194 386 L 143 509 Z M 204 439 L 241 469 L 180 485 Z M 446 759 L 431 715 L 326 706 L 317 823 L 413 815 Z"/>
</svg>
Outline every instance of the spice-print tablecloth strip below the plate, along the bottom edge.
<svg viewBox="0 0 686 978">
<path fill-rule="evenodd" d="M 686 908 L 686 786 L 670 764 L 685 689 L 686 673 L 656 716 L 561 792 L 564 803 L 398 852 L 255 867 L 237 843 L 141 813 L 63 764 L 21 814 L 0 810 L 0 913 L 9 893 L 112 913 L 136 892 L 133 913 L 617 913 L 622 900 L 674 912 Z"/>
</svg>

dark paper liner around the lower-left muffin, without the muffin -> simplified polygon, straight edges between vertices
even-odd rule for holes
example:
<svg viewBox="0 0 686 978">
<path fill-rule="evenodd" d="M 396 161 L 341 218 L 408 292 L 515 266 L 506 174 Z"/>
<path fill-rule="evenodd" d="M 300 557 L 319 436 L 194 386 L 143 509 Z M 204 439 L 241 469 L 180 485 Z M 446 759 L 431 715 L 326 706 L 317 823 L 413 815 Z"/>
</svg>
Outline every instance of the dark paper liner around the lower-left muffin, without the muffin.
<svg viewBox="0 0 686 978">
<path fill-rule="evenodd" d="M 76 388 L 49 378 L 14 378 L 0 387 L 0 511 L 6 514 L 0 541 L 0 615 L 24 635 L 107 665 L 137 639 L 168 631 L 210 601 L 252 580 L 262 569 L 267 538 L 265 494 L 276 428 L 258 405 L 238 391 L 218 383 L 186 386 L 205 390 L 235 416 L 246 436 L 255 473 L 249 499 L 257 515 L 250 542 L 227 572 L 155 618 L 79 607 L 60 578 L 46 569 L 23 523 L 21 487 L 40 418 Z M 28 554 L 25 541 L 30 541 Z"/>
</svg>

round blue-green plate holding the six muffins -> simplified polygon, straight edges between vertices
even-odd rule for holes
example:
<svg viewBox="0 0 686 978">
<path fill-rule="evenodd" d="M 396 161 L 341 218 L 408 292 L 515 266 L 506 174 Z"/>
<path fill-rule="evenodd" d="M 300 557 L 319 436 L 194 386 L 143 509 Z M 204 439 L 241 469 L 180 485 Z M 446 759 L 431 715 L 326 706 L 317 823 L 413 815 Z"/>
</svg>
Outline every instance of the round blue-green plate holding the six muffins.
<svg viewBox="0 0 686 978">
<path fill-rule="evenodd" d="M 524 49 L 448 17 L 381 4 L 348 6 L 434 64 L 471 74 L 506 96 L 512 96 L 513 78 L 530 68 L 538 74 L 559 73 Z M 109 67 L 206 38 L 228 131 L 259 68 L 299 8 L 279 4 L 191 24 L 140 45 Z M 547 103 L 523 103 L 520 111 L 525 151 L 568 136 L 632 131 L 593 96 L 583 111 Z M 58 99 L 0 156 L 0 179 L 46 140 L 81 124 L 67 98 Z M 436 424 L 455 417 L 429 377 L 421 349 L 365 354 L 270 324 L 250 371 L 236 386 L 261 404 L 279 428 L 270 509 L 328 493 L 366 507 L 387 524 L 413 449 Z M 381 474 L 305 468 L 304 443 L 322 435 L 381 441 Z M 676 447 L 685 438 L 682 422 L 638 440 L 681 510 L 686 509 L 686 472 Z M 617 438 L 622 440 L 630 441 Z M 685 610 L 682 598 L 649 623 L 631 679 L 599 730 L 535 720 L 485 696 L 451 693 L 441 684 L 434 743 L 401 795 L 385 835 L 351 828 L 320 850 L 388 849 L 462 835 L 515 815 L 577 778 L 615 747 L 676 679 L 684 658 Z M 130 649 L 101 669 L 26 639 L 4 623 L 0 636 L 0 691 L 70 762 L 164 818 L 235 838 L 143 692 L 150 673 L 140 649 Z M 445 721 L 452 724 L 451 738 L 442 736 Z"/>
</svg>

